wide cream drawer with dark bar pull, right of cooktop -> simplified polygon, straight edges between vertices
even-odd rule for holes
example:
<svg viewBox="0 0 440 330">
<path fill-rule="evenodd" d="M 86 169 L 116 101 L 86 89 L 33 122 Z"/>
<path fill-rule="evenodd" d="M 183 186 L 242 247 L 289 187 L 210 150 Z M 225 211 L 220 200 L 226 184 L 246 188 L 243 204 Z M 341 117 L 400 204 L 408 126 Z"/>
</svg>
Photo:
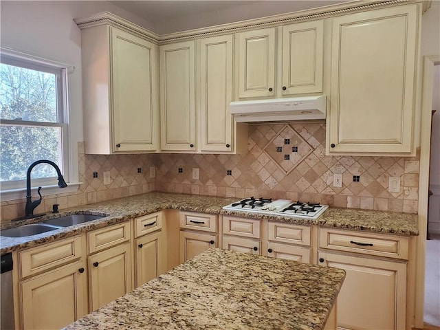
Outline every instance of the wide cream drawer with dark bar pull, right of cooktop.
<svg viewBox="0 0 440 330">
<path fill-rule="evenodd" d="M 408 238 L 320 228 L 320 248 L 408 259 Z"/>
</svg>

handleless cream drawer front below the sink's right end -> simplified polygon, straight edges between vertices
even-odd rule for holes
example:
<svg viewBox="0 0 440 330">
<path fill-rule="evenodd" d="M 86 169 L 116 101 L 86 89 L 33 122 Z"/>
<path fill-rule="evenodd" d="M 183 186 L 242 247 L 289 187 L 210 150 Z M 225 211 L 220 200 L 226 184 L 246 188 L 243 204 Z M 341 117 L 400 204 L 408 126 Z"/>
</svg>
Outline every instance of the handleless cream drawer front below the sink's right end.
<svg viewBox="0 0 440 330">
<path fill-rule="evenodd" d="M 89 254 L 110 248 L 113 245 L 130 240 L 130 222 L 126 221 L 109 228 L 87 232 Z"/>
</svg>

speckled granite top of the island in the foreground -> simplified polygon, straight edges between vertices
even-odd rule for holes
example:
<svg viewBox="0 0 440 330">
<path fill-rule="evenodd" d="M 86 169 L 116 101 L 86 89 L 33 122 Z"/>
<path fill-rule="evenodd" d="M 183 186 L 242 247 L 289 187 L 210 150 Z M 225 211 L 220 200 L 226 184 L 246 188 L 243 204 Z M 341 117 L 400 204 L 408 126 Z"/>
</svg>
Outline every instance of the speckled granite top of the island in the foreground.
<svg viewBox="0 0 440 330">
<path fill-rule="evenodd" d="M 72 329 L 323 329 L 344 270 L 210 249 Z"/>
</svg>

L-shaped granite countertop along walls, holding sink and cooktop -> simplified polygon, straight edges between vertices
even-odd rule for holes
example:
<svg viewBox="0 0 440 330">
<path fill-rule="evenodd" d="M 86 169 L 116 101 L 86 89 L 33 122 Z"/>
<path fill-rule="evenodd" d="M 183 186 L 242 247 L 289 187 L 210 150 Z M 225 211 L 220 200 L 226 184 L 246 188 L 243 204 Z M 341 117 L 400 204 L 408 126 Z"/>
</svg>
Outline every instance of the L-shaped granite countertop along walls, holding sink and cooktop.
<svg viewBox="0 0 440 330">
<path fill-rule="evenodd" d="M 157 212 L 167 208 L 212 214 L 229 214 L 237 217 L 252 217 L 254 219 L 269 219 L 272 221 L 283 221 L 297 224 L 323 225 L 333 228 L 369 230 L 371 232 L 388 234 L 419 234 L 417 229 L 417 214 L 354 210 L 349 208 L 329 208 L 318 217 L 318 219 L 302 219 L 222 210 L 223 206 L 236 200 L 236 197 L 213 197 L 175 194 L 169 192 L 148 192 L 142 195 L 69 208 L 68 210 L 61 210 L 60 214 L 47 214 L 35 219 L 3 223 L 1 229 L 10 228 L 24 223 L 38 223 L 46 219 L 60 217 L 60 215 L 76 214 L 78 212 L 99 214 L 106 217 L 33 236 L 21 238 L 0 236 L 0 253 L 3 254 L 23 250 L 24 248 L 30 248 L 41 243 L 49 243 L 51 241 L 56 241 L 57 239 L 74 236 L 80 232 L 121 223 L 133 217 L 139 217 L 140 215 Z"/>
</svg>

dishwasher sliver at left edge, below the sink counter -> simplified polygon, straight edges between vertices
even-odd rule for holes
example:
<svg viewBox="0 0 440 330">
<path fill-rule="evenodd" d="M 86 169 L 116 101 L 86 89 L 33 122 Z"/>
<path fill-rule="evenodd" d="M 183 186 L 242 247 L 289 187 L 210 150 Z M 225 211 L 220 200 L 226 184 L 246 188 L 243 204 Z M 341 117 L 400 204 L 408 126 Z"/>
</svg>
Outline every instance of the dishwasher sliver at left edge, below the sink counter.
<svg viewBox="0 0 440 330">
<path fill-rule="evenodd" d="M 12 296 L 12 254 L 1 256 L 1 314 L 0 329 L 14 329 L 14 296 Z"/>
</svg>

